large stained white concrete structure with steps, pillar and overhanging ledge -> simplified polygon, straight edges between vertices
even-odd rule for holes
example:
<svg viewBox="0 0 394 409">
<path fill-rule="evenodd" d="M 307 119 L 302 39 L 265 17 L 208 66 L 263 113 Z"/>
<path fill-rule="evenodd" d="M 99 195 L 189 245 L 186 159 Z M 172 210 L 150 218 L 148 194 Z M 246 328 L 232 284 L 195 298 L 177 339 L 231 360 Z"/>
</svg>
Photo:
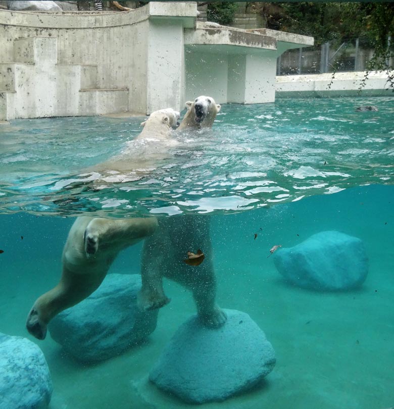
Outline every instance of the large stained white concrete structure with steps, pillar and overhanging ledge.
<svg viewBox="0 0 394 409">
<path fill-rule="evenodd" d="M 0 10 L 0 120 L 275 98 L 276 59 L 313 38 L 196 22 L 196 3 L 129 12 Z"/>
</svg>

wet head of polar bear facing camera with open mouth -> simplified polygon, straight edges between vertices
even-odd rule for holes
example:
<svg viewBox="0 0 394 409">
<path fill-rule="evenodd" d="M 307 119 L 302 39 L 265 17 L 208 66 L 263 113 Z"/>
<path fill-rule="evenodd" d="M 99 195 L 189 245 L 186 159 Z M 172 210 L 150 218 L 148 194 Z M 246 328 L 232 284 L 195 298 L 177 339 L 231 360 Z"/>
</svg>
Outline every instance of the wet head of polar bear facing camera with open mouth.
<svg viewBox="0 0 394 409">
<path fill-rule="evenodd" d="M 215 121 L 221 106 L 211 96 L 200 95 L 194 101 L 186 102 L 187 112 L 178 129 L 210 128 Z"/>
</svg>

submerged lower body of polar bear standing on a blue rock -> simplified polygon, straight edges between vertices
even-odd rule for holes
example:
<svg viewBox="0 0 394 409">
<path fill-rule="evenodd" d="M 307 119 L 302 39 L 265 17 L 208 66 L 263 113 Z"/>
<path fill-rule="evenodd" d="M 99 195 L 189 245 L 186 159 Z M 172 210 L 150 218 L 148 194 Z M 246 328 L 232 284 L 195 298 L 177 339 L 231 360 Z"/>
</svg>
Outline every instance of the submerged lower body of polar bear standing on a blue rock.
<svg viewBox="0 0 394 409">
<path fill-rule="evenodd" d="M 142 287 L 137 295 L 141 310 L 153 310 L 168 304 L 163 277 L 189 289 L 200 321 L 208 328 L 226 322 L 225 313 L 216 303 L 216 277 L 210 238 L 210 217 L 179 215 L 158 220 L 158 228 L 143 243 L 141 259 Z M 184 263 L 188 250 L 201 249 L 205 254 L 199 266 Z"/>
</svg>

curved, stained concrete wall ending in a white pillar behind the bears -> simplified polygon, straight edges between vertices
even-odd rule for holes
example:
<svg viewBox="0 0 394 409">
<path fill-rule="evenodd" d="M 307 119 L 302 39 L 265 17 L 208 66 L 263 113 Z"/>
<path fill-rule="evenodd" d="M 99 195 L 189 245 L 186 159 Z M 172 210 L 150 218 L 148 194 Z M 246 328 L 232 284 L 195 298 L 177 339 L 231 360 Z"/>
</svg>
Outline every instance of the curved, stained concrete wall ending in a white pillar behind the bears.
<svg viewBox="0 0 394 409">
<path fill-rule="evenodd" d="M 95 115 L 119 111 L 146 114 L 163 107 L 180 109 L 184 103 L 183 28 L 192 27 L 195 18 L 196 5 L 192 3 L 154 3 L 130 12 L 109 13 L 1 10 L 0 78 L 4 83 L 9 64 L 19 63 L 15 75 L 18 75 L 18 70 L 24 70 L 25 78 L 34 83 L 34 86 L 26 87 L 21 80 L 17 89 L 13 90 L 7 89 L 10 85 L 0 86 L 3 106 L 5 100 L 9 105 L 7 114 L 3 110 L 3 117 L 52 116 L 55 112 L 56 115 Z M 38 65 L 28 62 L 31 67 L 26 67 L 26 61 L 21 56 L 29 53 L 28 47 L 17 53 L 16 58 L 16 39 L 33 37 L 56 40 L 51 46 L 52 51 L 56 47 L 55 54 L 46 50 L 48 55 L 52 53 L 48 60 L 52 64 L 51 70 L 43 72 L 39 68 L 42 62 Z M 38 49 L 31 49 L 30 52 L 36 53 Z M 71 74 L 62 75 L 66 73 L 64 67 L 60 68 L 63 65 L 94 66 L 94 81 L 80 83 L 80 79 L 73 80 Z M 53 81 L 58 84 L 54 85 Z M 30 92 L 32 88 L 36 90 L 34 96 Z M 37 94 L 38 89 L 47 90 L 44 100 Z M 111 90 L 114 93 L 112 96 Z M 126 106 L 124 96 L 119 99 L 119 95 L 116 95 L 125 90 Z M 5 95 L 2 91 L 15 91 L 18 95 Z M 85 95 L 78 94 L 80 91 Z M 89 100 L 96 100 L 96 112 L 86 110 Z M 11 107 L 10 101 L 18 107 Z M 120 101 L 120 105 L 116 105 L 117 101 Z M 37 103 L 39 108 L 34 107 Z M 54 110 L 52 107 L 55 105 Z M 62 111 L 65 107 L 67 109 Z"/>
</svg>

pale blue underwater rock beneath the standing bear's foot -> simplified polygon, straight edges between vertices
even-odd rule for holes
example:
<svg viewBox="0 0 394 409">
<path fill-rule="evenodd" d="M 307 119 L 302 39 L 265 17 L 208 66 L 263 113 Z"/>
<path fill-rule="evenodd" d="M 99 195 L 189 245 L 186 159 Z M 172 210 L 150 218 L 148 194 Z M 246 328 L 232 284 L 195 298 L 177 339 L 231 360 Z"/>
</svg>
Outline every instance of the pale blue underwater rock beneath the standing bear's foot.
<svg viewBox="0 0 394 409">
<path fill-rule="evenodd" d="M 248 314 L 224 310 L 227 322 L 204 327 L 196 316 L 183 323 L 149 379 L 186 402 L 222 401 L 246 391 L 275 366 L 275 352 Z"/>
</svg>

